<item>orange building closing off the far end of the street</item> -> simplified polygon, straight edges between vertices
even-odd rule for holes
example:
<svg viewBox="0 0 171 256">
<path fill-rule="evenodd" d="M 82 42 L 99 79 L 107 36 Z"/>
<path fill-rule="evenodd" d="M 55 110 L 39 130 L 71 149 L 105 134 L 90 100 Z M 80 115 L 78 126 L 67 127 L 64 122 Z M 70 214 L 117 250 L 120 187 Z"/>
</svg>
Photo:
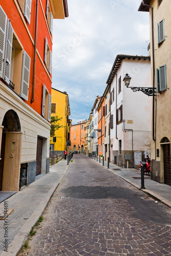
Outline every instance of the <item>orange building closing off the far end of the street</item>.
<svg viewBox="0 0 171 256">
<path fill-rule="evenodd" d="M 83 154 L 86 149 L 86 122 L 87 120 L 80 121 L 77 124 L 73 124 L 70 129 L 71 146 L 70 152 L 78 152 Z"/>
</svg>

